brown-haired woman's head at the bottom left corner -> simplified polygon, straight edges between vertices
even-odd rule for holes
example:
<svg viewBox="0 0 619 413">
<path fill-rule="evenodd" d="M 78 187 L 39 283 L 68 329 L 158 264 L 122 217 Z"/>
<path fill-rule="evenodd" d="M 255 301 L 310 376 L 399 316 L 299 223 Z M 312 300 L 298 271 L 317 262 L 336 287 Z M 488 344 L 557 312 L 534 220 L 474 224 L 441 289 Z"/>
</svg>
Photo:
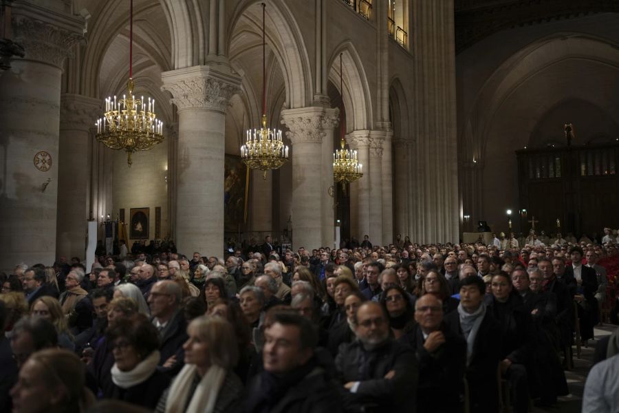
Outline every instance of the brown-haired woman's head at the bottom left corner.
<svg viewBox="0 0 619 413">
<path fill-rule="evenodd" d="M 73 352 L 59 348 L 35 352 L 11 389 L 13 412 L 85 412 L 94 402 L 85 377 L 84 364 Z"/>
</svg>

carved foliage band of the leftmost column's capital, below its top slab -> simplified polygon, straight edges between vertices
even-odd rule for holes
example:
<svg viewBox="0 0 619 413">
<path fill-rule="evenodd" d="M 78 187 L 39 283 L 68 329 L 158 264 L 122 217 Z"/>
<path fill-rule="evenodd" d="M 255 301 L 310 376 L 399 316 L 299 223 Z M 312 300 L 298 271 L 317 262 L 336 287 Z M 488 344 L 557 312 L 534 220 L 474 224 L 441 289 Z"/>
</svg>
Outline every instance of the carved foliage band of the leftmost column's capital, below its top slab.
<svg viewBox="0 0 619 413">
<path fill-rule="evenodd" d="M 71 47 L 84 41 L 83 34 L 25 16 L 15 16 L 12 27 L 14 41 L 23 45 L 25 50 L 24 59 L 48 63 L 61 69 L 65 59 L 73 56 Z"/>
</svg>

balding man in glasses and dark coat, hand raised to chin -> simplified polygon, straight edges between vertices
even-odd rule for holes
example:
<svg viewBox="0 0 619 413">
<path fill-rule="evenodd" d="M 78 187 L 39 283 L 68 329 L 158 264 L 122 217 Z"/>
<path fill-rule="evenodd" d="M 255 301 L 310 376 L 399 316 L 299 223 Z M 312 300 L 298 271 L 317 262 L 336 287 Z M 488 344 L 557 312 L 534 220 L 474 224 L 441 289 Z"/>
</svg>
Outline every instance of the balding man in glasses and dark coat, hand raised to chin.
<svg viewBox="0 0 619 413">
<path fill-rule="evenodd" d="M 415 301 L 415 320 L 400 342 L 411 346 L 419 361 L 417 413 L 461 412 L 466 341 L 443 324 L 442 302 L 435 295 Z"/>
</svg>

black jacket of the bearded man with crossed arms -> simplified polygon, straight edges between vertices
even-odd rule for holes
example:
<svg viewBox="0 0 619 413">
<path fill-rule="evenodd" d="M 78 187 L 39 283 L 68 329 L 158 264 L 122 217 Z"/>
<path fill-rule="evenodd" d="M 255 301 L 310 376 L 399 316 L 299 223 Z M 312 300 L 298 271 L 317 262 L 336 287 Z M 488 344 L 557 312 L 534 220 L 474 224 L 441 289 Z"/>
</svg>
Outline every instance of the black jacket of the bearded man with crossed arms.
<svg viewBox="0 0 619 413">
<path fill-rule="evenodd" d="M 381 412 L 414 411 L 411 400 L 415 400 L 418 371 L 417 357 L 410 347 L 387 339 L 379 348 L 367 351 L 355 340 L 340 346 L 336 368 L 340 383 L 360 382 L 355 393 L 342 388 L 347 410 L 371 406 Z M 391 370 L 395 376 L 385 379 Z"/>
</svg>

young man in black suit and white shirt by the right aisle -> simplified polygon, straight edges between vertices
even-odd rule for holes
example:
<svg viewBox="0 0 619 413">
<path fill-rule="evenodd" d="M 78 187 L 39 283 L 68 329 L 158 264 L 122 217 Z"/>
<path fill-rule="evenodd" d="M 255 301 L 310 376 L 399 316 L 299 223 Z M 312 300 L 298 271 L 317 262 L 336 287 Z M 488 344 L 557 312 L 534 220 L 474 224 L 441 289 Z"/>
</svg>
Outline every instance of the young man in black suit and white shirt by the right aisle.
<svg viewBox="0 0 619 413">
<path fill-rule="evenodd" d="M 583 341 L 594 338 L 594 326 L 599 322 L 598 275 L 593 268 L 583 265 L 583 248 L 572 246 L 569 248 L 569 257 L 572 265 L 565 268 L 565 277 L 572 277 L 576 282 L 574 299 L 578 304 L 578 318 L 580 319 L 580 338 Z M 584 298 L 583 298 L 584 297 Z"/>
</svg>

